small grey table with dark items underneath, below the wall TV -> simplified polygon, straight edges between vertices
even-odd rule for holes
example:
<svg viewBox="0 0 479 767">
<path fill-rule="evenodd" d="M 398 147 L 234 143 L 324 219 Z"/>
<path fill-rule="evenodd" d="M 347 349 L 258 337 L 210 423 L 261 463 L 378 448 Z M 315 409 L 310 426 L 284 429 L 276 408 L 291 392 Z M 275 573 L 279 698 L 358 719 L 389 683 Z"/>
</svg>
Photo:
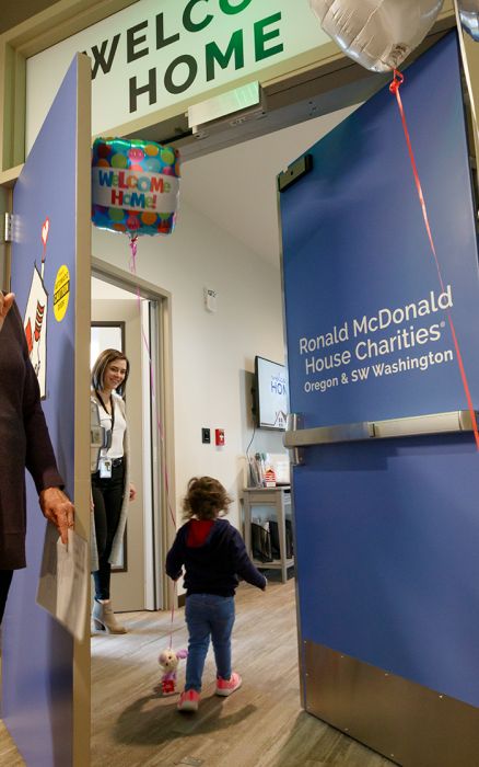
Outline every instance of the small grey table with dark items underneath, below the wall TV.
<svg viewBox="0 0 479 767">
<path fill-rule="evenodd" d="M 294 565 L 291 488 L 245 488 L 246 550 L 257 568 L 281 570 L 282 582 Z"/>
</svg>

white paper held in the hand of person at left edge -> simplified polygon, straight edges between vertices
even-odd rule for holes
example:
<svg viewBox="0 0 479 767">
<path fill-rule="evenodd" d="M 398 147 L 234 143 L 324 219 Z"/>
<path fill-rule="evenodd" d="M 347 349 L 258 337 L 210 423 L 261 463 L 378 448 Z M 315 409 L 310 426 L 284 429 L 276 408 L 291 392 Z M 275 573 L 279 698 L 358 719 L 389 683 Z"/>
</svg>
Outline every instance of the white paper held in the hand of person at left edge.
<svg viewBox="0 0 479 767">
<path fill-rule="evenodd" d="M 66 546 L 48 524 L 36 602 L 78 640 L 84 637 L 89 576 L 87 542 L 69 529 Z"/>
</svg>

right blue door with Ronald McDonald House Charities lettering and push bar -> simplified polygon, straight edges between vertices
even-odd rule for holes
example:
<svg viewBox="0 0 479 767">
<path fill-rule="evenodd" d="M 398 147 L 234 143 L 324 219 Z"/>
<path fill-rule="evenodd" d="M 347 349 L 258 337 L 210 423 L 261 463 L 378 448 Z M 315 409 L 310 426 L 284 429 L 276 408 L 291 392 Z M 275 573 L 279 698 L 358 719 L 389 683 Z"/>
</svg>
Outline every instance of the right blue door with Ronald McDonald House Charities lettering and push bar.
<svg viewBox="0 0 479 767">
<path fill-rule="evenodd" d="M 472 433 L 372 438 L 375 422 L 387 430 L 390 420 L 446 413 L 439 422 L 449 424 L 456 413 L 464 423 L 464 412 L 467 422 L 449 317 L 479 407 L 476 211 L 455 36 L 405 75 L 442 283 L 388 88 L 279 179 L 290 410 L 301 420 L 287 439 L 301 444 L 303 428 L 340 434 L 304 448 L 293 471 L 302 682 L 305 708 L 339 729 L 401 764 L 452 767 L 472 762 L 457 751 L 448 760 L 447 744 L 418 760 L 395 735 L 398 710 L 387 719 L 383 682 L 367 703 L 357 686 L 363 673 L 372 685 L 393 676 L 406 698 L 479 707 Z M 326 433 L 309 434 L 314 443 Z M 374 735 L 389 725 L 389 741 Z"/>
</svg>

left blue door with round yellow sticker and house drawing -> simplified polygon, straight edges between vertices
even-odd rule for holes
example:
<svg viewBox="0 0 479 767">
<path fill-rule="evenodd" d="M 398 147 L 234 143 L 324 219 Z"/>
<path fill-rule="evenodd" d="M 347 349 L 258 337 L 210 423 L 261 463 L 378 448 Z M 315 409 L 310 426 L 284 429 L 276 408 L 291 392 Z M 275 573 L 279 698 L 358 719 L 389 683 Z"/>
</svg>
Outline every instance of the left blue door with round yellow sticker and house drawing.
<svg viewBox="0 0 479 767">
<path fill-rule="evenodd" d="M 89 407 L 90 141 L 90 65 L 77 56 L 15 183 L 11 284 L 59 470 L 84 536 L 89 436 L 82 424 L 75 427 L 75 405 L 83 394 Z M 35 602 L 45 524 L 27 476 L 27 569 L 14 573 L 7 605 L 2 718 L 27 765 L 68 767 L 80 764 L 73 756 L 73 694 L 74 682 L 89 689 L 87 654 L 77 655 L 73 679 L 78 648 Z"/>
</svg>

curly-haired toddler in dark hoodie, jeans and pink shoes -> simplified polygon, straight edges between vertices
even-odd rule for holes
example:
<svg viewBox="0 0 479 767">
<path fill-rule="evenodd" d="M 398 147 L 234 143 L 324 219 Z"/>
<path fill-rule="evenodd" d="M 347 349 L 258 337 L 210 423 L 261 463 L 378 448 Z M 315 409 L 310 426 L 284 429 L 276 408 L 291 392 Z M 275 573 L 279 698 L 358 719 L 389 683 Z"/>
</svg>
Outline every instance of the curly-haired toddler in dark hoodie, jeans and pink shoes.
<svg viewBox="0 0 479 767">
<path fill-rule="evenodd" d="M 231 668 L 231 632 L 237 575 L 265 591 L 267 580 L 246 553 L 240 533 L 226 519 L 231 504 L 223 485 L 211 477 L 194 477 L 183 504 L 186 525 L 179 528 L 166 557 L 166 573 L 176 581 L 185 568 L 188 659 L 179 711 L 197 711 L 205 660 L 213 643 L 217 695 L 227 696 L 242 684 Z"/>
</svg>

